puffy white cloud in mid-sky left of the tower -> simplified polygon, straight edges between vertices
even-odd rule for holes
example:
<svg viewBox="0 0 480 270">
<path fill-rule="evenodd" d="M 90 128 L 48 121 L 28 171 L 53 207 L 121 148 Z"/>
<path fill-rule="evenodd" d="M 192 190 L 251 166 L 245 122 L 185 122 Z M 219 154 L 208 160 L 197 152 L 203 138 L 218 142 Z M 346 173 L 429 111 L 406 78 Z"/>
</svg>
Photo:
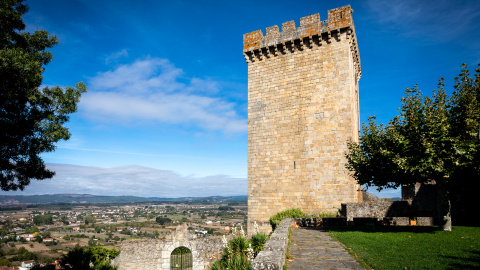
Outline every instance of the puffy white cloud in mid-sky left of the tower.
<svg viewBox="0 0 480 270">
<path fill-rule="evenodd" d="M 189 124 L 204 130 L 243 133 L 246 119 L 220 97 L 216 81 L 186 78 L 167 59 L 148 58 L 89 80 L 80 111 L 101 121 Z"/>
</svg>

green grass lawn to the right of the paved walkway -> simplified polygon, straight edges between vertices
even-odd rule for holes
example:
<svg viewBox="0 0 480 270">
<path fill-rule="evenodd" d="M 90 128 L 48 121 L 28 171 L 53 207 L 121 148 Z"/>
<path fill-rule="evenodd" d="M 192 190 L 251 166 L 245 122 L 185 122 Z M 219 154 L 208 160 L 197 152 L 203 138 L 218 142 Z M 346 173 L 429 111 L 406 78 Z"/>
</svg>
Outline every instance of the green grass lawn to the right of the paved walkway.
<svg viewBox="0 0 480 270">
<path fill-rule="evenodd" d="M 373 269 L 480 269 L 480 227 L 335 227 L 329 234 Z"/>
</svg>

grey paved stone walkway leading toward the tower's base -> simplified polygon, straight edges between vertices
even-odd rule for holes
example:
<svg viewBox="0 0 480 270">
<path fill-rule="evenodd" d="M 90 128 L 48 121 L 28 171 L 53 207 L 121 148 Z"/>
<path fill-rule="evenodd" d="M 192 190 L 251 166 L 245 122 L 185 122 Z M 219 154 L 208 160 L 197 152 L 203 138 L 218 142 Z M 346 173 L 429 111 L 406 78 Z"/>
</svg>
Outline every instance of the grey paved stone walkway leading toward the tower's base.
<svg viewBox="0 0 480 270">
<path fill-rule="evenodd" d="M 297 228 L 292 231 L 290 257 L 289 270 L 365 269 L 338 242 L 318 227 Z"/>
</svg>

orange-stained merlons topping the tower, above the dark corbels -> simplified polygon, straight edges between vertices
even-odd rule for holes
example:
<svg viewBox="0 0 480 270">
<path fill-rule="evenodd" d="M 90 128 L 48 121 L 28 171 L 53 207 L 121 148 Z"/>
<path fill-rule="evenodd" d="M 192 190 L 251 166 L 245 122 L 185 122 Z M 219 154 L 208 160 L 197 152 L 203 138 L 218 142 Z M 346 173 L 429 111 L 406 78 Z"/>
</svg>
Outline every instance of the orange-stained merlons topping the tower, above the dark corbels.
<svg viewBox="0 0 480 270">
<path fill-rule="evenodd" d="M 255 51 L 261 53 L 262 49 L 268 49 L 286 43 L 294 43 L 295 40 L 300 40 L 300 44 L 302 44 L 303 39 L 313 38 L 315 36 L 321 39 L 322 34 L 326 35 L 327 40 L 330 40 L 332 32 L 336 32 L 339 36 L 341 30 L 346 29 L 347 38 L 349 35 L 352 37 L 352 52 L 354 54 L 357 71 L 359 75 L 361 75 L 360 54 L 355 37 L 352 13 L 353 9 L 350 5 L 347 5 L 329 10 L 328 19 L 325 21 L 320 21 L 320 15 L 317 13 L 300 18 L 300 27 L 298 28 L 295 27 L 295 21 L 289 21 L 282 23 L 282 32 L 279 31 L 277 25 L 274 25 L 267 27 L 265 36 L 261 30 L 244 34 L 243 54 L 248 62 L 250 56 L 255 55 Z M 269 50 L 266 52 L 268 53 Z M 247 56 L 247 54 L 249 56 Z M 260 59 L 262 59 L 261 56 Z"/>
</svg>

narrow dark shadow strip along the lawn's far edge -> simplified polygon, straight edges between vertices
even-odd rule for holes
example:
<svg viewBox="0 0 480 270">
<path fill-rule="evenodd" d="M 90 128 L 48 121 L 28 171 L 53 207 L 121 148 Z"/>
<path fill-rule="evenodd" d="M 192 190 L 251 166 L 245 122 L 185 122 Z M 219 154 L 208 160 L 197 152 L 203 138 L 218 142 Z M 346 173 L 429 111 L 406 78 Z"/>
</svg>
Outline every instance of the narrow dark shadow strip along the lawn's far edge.
<svg viewBox="0 0 480 270">
<path fill-rule="evenodd" d="M 429 226 L 329 226 L 323 227 L 327 232 L 364 232 L 364 233 L 387 233 L 387 232 L 409 232 L 409 233 L 434 233 L 440 231 L 438 227 Z"/>
</svg>

